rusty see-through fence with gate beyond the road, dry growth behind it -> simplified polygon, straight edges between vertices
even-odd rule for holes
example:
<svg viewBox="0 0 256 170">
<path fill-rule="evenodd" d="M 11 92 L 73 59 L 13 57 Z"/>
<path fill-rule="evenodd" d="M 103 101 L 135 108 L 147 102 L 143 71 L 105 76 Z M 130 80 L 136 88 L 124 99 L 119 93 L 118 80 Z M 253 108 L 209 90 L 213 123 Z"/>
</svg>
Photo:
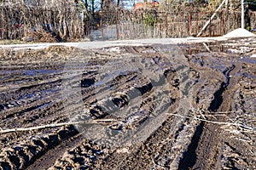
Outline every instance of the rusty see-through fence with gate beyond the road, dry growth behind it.
<svg viewBox="0 0 256 170">
<path fill-rule="evenodd" d="M 113 14 L 113 13 L 112 13 Z M 210 12 L 190 12 L 168 14 L 159 12 L 156 15 L 156 22 L 153 26 L 148 26 L 143 22 L 143 17 L 138 20 L 126 17 L 124 20 L 123 14 L 118 14 L 117 17 L 113 14 L 113 18 L 117 18 L 111 24 L 105 20 L 104 16 L 111 14 L 102 14 L 101 26 L 97 30 L 90 30 L 90 39 L 94 40 L 115 40 L 115 39 L 134 39 L 134 38 L 160 38 L 160 37 L 195 37 L 202 27 L 211 18 Z M 254 19 L 256 13 L 250 11 L 248 14 L 251 17 L 247 25 L 251 29 L 255 29 Z M 201 37 L 217 37 L 223 36 L 229 31 L 241 27 L 241 11 L 219 11 L 216 17 L 210 21 L 207 29 L 202 32 Z"/>
</svg>

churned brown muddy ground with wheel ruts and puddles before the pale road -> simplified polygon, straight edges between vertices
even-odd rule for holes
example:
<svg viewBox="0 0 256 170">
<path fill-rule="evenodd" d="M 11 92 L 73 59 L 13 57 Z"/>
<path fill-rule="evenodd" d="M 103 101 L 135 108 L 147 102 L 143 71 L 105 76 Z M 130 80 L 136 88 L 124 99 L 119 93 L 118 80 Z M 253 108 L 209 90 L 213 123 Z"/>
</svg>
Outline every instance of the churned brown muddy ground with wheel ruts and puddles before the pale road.
<svg viewBox="0 0 256 170">
<path fill-rule="evenodd" d="M 68 122 L 71 113 L 88 111 L 78 120 L 117 119 L 103 126 L 124 131 L 136 129 L 150 118 L 157 103 L 154 86 L 137 71 L 124 71 L 108 84 L 111 94 L 96 96 L 105 89 L 95 86 L 102 65 L 140 56 L 160 65 L 168 93 L 161 100 L 170 113 L 147 139 L 126 145 L 108 145 L 84 138 L 81 128 L 62 126 L 26 132 L 1 133 L 1 169 L 255 169 L 256 165 L 256 39 L 210 42 L 208 53 L 201 43 L 179 44 L 189 64 L 191 94 L 189 111 L 179 110 L 183 99 L 181 80 L 173 63 L 152 46 L 93 49 L 50 47 L 44 50 L 1 50 L 1 128 L 33 127 Z M 168 48 L 168 45 L 158 45 Z M 116 49 L 116 48 L 115 48 Z M 91 57 L 89 65 L 80 55 Z M 74 64 L 67 66 L 67 60 Z M 145 63 L 146 65 L 147 63 Z M 84 69 L 85 68 L 85 69 Z M 82 76 L 69 71 L 80 71 Z M 65 76 L 66 74 L 66 76 Z M 77 78 L 76 78 L 77 77 Z M 79 81 L 77 81 L 79 80 Z M 165 87 L 160 79 L 155 84 Z M 157 82 L 159 81 L 159 82 Z M 75 86 L 81 101 L 63 98 L 65 86 Z M 104 91 L 104 90 L 103 90 Z M 140 96 L 133 95 L 139 91 Z M 64 91 L 65 92 L 65 91 Z M 140 112 L 123 116 L 109 114 L 104 105 L 109 96 L 119 108 L 141 102 Z M 143 100 L 143 101 L 141 101 Z M 163 109 L 163 108 L 160 108 Z M 85 114 L 86 113 L 86 114 Z M 200 119 L 199 119 L 200 118 Z M 232 122 L 241 126 L 212 122 Z"/>
</svg>

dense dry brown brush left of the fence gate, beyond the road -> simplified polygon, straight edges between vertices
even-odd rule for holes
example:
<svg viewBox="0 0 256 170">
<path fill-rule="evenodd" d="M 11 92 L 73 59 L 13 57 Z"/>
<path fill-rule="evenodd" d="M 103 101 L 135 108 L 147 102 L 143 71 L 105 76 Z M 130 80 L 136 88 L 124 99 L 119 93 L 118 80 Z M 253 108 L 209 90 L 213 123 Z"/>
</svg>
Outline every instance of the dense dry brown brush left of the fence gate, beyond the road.
<svg viewBox="0 0 256 170">
<path fill-rule="evenodd" d="M 83 36 L 83 20 L 75 3 L 68 1 L 55 1 L 54 5 L 43 6 L 2 3 L 0 14 L 1 39 L 33 36 L 39 41 L 52 42 L 53 38 L 55 41 L 72 41 Z"/>
</svg>

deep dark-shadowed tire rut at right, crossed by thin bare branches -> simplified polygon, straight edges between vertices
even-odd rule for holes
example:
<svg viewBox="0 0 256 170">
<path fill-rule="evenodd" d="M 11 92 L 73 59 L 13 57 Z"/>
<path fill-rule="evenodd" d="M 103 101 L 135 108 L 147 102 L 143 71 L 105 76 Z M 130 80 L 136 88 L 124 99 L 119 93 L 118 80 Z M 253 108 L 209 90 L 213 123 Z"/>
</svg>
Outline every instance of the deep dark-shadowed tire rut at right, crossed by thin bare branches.
<svg viewBox="0 0 256 170">
<path fill-rule="evenodd" d="M 226 81 L 221 82 L 220 88 L 213 94 L 214 98 L 207 109 L 208 111 L 213 111 L 213 115 L 214 111 L 225 111 L 226 109 L 229 109 L 229 107 L 224 107 L 219 110 L 219 108 L 224 105 L 224 93 L 230 85 L 230 72 L 235 68 L 235 65 L 231 65 L 223 71 Z M 224 121 L 224 119 L 218 118 L 217 121 L 221 122 Z M 178 169 L 212 168 L 211 162 L 216 162 L 216 160 L 212 160 L 214 155 L 216 155 L 216 153 L 214 153 L 215 150 L 218 153 L 218 129 L 218 125 L 201 122 L 200 125 L 196 127 L 195 134 L 191 140 L 192 142 L 189 144 L 187 152 L 184 153 Z M 214 149 L 212 150 L 212 148 Z"/>
</svg>

